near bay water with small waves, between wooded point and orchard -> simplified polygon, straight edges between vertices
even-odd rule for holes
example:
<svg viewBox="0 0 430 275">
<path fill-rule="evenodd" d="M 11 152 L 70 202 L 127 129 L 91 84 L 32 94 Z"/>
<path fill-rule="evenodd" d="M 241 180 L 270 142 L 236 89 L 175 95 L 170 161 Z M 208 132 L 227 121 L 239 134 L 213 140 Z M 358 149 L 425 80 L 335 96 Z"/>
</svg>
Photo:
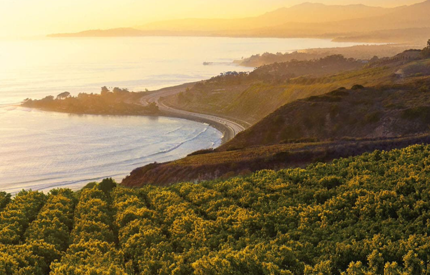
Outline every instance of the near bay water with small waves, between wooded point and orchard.
<svg viewBox="0 0 430 275">
<path fill-rule="evenodd" d="M 16 122 L 19 121 L 19 124 Z M 217 147 L 221 132 L 185 119 L 0 108 L 0 190 L 80 189 L 134 168 Z"/>
</svg>

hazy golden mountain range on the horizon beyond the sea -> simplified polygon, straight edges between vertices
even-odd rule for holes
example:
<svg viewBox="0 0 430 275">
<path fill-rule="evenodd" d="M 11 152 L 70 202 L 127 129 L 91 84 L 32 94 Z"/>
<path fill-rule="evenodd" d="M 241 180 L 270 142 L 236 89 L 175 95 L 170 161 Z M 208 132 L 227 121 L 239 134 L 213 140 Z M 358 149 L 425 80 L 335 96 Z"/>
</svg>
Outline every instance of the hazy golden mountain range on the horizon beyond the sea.
<svg viewBox="0 0 430 275">
<path fill-rule="evenodd" d="M 236 19 L 187 18 L 136 27 L 90 30 L 49 37 L 228 36 L 319 37 L 343 41 L 414 42 L 430 37 L 430 0 L 395 8 L 303 3 Z M 421 41 L 422 42 L 422 41 Z"/>
</svg>

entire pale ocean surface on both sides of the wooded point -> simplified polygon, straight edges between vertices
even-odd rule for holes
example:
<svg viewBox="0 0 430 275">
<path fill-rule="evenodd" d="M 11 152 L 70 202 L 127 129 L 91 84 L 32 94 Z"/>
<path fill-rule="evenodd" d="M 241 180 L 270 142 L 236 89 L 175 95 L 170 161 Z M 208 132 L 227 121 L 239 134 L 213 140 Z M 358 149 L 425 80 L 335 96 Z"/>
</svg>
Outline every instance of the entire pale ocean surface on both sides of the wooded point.
<svg viewBox="0 0 430 275">
<path fill-rule="evenodd" d="M 217 147 L 221 133 L 183 119 L 77 116 L 14 107 L 25 98 L 68 91 L 130 91 L 207 79 L 263 52 L 352 46 L 317 39 L 117 37 L 0 41 L 0 191 L 79 189 L 150 162 Z"/>
</svg>

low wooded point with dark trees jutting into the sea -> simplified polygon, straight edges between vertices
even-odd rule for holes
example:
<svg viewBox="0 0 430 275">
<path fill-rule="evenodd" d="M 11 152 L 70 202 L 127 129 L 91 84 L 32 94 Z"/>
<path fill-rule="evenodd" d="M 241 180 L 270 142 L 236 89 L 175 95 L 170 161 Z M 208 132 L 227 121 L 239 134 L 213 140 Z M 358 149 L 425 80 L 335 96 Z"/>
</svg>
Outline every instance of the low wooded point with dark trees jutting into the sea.
<svg viewBox="0 0 430 275">
<path fill-rule="evenodd" d="M 110 92 L 104 86 L 100 94 L 80 93 L 73 97 L 69 92 L 63 92 L 57 97 L 50 95 L 40 100 L 27 98 L 22 102 L 22 106 L 70 113 L 155 114 L 158 112 L 156 103 L 148 106 L 132 104 L 140 96 L 139 93 L 117 87 Z"/>
</svg>

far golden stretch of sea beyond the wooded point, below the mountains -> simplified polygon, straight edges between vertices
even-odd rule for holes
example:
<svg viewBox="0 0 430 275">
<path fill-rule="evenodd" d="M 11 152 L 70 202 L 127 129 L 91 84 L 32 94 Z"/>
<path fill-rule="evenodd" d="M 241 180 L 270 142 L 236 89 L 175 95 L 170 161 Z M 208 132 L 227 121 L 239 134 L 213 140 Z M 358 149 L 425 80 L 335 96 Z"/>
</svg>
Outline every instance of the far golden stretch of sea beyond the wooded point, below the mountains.
<svg viewBox="0 0 430 275">
<path fill-rule="evenodd" d="M 252 70 L 231 62 L 263 52 L 353 46 L 319 39 L 227 37 L 101 37 L 0 41 L 0 104 L 68 91 L 130 91 L 199 81 Z"/>
</svg>

